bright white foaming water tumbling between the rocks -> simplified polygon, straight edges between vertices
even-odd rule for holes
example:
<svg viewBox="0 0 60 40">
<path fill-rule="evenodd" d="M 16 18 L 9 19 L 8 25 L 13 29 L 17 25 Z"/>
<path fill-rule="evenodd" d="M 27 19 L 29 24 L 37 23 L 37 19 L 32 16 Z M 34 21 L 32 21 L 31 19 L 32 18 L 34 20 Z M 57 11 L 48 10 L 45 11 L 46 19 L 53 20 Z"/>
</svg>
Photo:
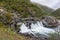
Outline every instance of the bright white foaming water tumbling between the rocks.
<svg viewBox="0 0 60 40">
<path fill-rule="evenodd" d="M 42 24 L 42 22 L 37 22 L 35 24 L 31 24 L 31 29 L 29 29 L 27 26 L 25 26 L 25 24 L 23 23 L 20 27 L 20 33 L 24 34 L 24 33 L 27 33 L 27 34 L 42 34 L 42 35 L 46 35 L 48 36 L 48 34 L 50 33 L 55 33 L 55 30 L 54 29 L 51 29 L 51 28 L 45 28 Z"/>
</svg>

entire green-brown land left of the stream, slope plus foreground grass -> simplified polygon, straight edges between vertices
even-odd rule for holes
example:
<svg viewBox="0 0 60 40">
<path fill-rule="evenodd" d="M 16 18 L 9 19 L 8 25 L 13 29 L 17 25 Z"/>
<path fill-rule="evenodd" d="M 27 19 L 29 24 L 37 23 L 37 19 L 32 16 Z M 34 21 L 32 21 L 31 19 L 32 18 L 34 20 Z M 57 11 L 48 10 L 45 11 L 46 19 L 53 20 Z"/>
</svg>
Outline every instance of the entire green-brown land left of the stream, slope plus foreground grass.
<svg viewBox="0 0 60 40">
<path fill-rule="evenodd" d="M 30 36 L 17 33 L 20 27 L 17 23 L 21 22 L 22 18 L 41 19 L 48 16 L 51 9 L 45 8 L 47 7 L 40 8 L 32 4 L 30 0 L 0 0 L 0 40 L 31 40 Z"/>
</svg>

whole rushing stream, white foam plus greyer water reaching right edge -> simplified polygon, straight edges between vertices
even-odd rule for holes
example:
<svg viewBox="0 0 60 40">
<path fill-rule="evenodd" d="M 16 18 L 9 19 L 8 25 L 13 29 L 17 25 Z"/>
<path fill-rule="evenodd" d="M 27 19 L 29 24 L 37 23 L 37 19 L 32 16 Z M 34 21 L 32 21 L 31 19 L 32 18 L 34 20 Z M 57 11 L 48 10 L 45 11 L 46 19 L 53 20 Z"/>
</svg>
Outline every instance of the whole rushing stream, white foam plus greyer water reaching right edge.
<svg viewBox="0 0 60 40">
<path fill-rule="evenodd" d="M 38 21 L 36 23 L 31 23 L 30 27 L 31 28 L 29 28 L 29 26 L 26 26 L 25 23 L 22 23 L 22 25 L 20 26 L 19 33 L 34 37 L 49 37 L 50 34 L 55 34 L 55 33 L 59 34 L 60 32 L 60 25 L 55 28 L 46 28 L 44 27 L 41 21 L 40 22 Z"/>
</svg>

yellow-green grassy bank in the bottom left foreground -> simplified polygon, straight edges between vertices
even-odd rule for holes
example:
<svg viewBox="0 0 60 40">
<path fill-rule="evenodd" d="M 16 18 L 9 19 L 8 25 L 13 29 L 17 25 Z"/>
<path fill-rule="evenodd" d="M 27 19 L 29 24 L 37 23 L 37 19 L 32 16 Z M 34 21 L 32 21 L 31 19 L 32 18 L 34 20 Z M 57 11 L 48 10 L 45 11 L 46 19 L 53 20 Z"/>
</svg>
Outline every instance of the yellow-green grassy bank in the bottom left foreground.
<svg viewBox="0 0 60 40">
<path fill-rule="evenodd" d="M 19 35 L 0 23 L 0 40 L 27 40 L 26 36 Z M 29 38 L 28 38 L 29 40 Z"/>
</svg>

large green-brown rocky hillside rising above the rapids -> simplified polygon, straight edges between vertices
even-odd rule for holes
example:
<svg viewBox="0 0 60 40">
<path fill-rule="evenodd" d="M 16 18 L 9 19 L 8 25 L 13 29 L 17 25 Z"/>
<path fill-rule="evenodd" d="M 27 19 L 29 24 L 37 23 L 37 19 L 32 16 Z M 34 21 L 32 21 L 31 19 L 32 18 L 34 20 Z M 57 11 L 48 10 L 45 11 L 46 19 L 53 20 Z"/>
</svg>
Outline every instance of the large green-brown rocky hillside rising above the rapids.
<svg viewBox="0 0 60 40">
<path fill-rule="evenodd" d="M 3 11 L 1 11 L 3 10 Z M 41 18 L 47 12 L 32 4 L 29 0 L 0 0 L 0 22 L 5 25 L 15 24 L 21 18 Z"/>
</svg>

